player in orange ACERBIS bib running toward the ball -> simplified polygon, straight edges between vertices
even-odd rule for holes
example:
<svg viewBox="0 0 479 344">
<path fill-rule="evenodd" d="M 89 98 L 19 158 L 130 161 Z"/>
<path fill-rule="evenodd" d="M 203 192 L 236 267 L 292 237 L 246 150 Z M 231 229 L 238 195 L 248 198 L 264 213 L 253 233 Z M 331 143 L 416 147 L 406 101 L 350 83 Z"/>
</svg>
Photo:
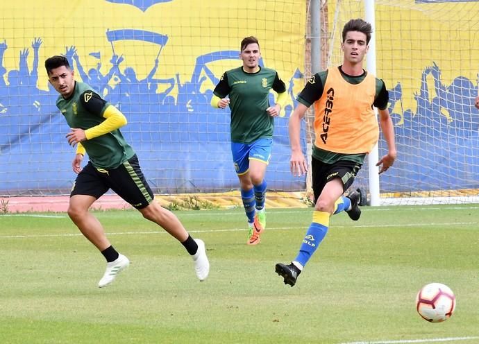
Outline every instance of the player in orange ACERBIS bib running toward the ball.
<svg viewBox="0 0 479 344">
<path fill-rule="evenodd" d="M 312 188 L 315 206 L 312 223 L 292 263 L 276 264 L 276 273 L 290 286 L 296 284 L 305 264 L 326 236 L 333 214 L 344 211 L 354 221 L 360 218 L 360 193 L 353 191 L 344 196 L 344 191 L 351 187 L 364 158 L 378 142 L 378 119 L 373 105 L 378 108 L 388 148 L 387 155 L 376 164 L 380 166 L 379 173 L 387 171 L 396 160 L 385 83 L 362 68 L 371 33 L 371 24 L 362 19 L 346 23 L 341 44 L 343 64 L 314 74 L 297 97 L 299 104 L 289 118 L 291 172 L 302 175 L 308 171 L 308 164 L 301 150 L 299 130 L 301 119 L 314 103 L 316 136 L 312 150 Z"/>
</svg>

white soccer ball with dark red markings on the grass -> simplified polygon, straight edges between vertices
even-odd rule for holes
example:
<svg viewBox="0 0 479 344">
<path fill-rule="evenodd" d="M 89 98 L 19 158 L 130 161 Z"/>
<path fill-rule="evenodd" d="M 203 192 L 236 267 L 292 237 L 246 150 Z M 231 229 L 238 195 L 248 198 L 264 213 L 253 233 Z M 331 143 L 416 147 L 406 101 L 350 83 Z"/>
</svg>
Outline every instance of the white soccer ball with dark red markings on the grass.
<svg viewBox="0 0 479 344">
<path fill-rule="evenodd" d="M 416 296 L 417 313 L 429 322 L 442 322 L 451 318 L 455 309 L 453 291 L 441 283 L 423 286 Z"/>
</svg>

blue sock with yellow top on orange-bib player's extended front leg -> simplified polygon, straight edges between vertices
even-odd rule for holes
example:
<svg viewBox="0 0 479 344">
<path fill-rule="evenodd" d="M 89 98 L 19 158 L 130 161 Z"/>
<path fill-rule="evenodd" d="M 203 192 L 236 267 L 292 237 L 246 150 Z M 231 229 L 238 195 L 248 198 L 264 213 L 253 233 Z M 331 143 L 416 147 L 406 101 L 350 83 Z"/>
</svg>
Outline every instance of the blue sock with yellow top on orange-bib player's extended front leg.
<svg viewBox="0 0 479 344">
<path fill-rule="evenodd" d="M 313 253 L 317 250 L 324 236 L 328 232 L 330 214 L 326 212 L 314 212 L 312 214 L 312 223 L 299 248 L 297 261 L 303 267 L 308 263 Z"/>
</svg>

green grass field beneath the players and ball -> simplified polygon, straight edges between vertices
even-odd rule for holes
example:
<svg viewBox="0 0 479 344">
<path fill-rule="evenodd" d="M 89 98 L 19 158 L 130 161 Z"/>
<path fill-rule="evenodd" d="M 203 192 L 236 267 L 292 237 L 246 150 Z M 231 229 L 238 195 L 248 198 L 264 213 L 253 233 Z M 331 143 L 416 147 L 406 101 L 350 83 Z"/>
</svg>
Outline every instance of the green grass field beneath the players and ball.
<svg viewBox="0 0 479 344">
<path fill-rule="evenodd" d="M 210 277 L 135 211 L 96 212 L 131 266 L 105 289 L 105 261 L 66 214 L 0 216 L 0 343 L 479 343 L 479 206 L 364 207 L 339 214 L 296 286 L 289 263 L 312 209 L 270 209 L 246 246 L 242 209 L 176 212 L 205 241 Z M 40 215 L 40 214 L 38 214 Z M 457 307 L 421 319 L 414 298 L 442 282 Z"/>
</svg>

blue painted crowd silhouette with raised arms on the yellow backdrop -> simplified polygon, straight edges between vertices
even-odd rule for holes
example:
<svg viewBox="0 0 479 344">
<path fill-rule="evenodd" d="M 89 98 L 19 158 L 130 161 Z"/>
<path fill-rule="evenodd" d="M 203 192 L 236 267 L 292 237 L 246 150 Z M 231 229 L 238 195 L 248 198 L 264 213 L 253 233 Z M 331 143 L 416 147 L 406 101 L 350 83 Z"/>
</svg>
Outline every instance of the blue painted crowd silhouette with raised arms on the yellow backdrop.
<svg viewBox="0 0 479 344">
<path fill-rule="evenodd" d="M 167 36 L 133 29 L 107 31 L 106 36 L 112 46 L 108 67 L 103 65 L 106 58 L 99 52 L 78 51 L 72 45 L 58 53 L 67 57 L 77 80 L 89 84 L 124 112 L 128 126 L 122 131 L 137 150 L 140 159 L 145 160 L 143 164 L 145 169 L 150 170 L 146 172 L 147 175 L 153 175 L 150 182 L 155 191 L 234 189 L 236 176 L 231 172 L 233 169 L 230 166 L 229 148 L 225 146 L 229 142 L 229 112 L 210 106 L 212 87 L 219 81 L 219 76 L 211 71 L 208 64 L 237 60 L 239 52 L 213 51 L 198 56 L 190 80 L 180 80 L 178 73 L 170 78 L 158 79 L 155 75 L 161 67 L 160 53 L 167 44 Z M 146 77 L 140 78 L 135 66 L 126 65 L 124 56 L 115 53 L 114 42 L 117 40 L 143 40 L 158 44 L 158 55 L 151 61 L 151 69 Z M 48 172 L 49 162 L 59 159 L 69 161 L 71 156 L 67 155 L 65 159 L 65 152 L 71 153 L 72 150 L 65 142 L 64 133 L 67 128 L 55 105 L 58 94 L 47 80 L 38 79 L 42 44 L 41 37 L 34 37 L 31 47 L 19 51 L 18 69 L 7 70 L 3 56 L 8 49 L 8 42 L 3 40 L 0 43 L 1 166 L 10 169 L 14 175 L 22 175 L 26 171 L 23 167 L 20 171 L 18 166 L 25 164 L 24 154 L 35 154 L 41 146 L 45 147 L 42 156 L 49 156 L 46 162 L 36 163 L 35 169 L 40 169 L 40 174 L 35 173 L 35 180 L 26 173 L 26 181 L 19 180 L 13 189 L 67 189 L 68 186 L 62 185 L 58 180 L 72 180 L 68 170 L 62 170 L 58 180 L 51 180 Z M 28 57 L 31 52 L 33 62 L 30 66 Z M 97 63 L 95 67 L 86 70 L 83 60 L 87 56 L 95 58 Z M 262 61 L 260 65 L 263 65 Z M 289 175 L 287 117 L 296 105 L 294 85 L 301 83 L 302 86 L 305 78 L 299 69 L 292 71 L 292 75 L 283 77 L 287 78 L 289 85 L 290 103 L 285 108 L 287 116 L 276 120 L 269 187 L 281 190 L 303 189 L 305 180 Z M 435 62 L 424 68 L 418 77 L 421 78 L 421 87 L 414 92 L 416 109 L 403 108 L 401 82 L 389 89 L 389 112 L 395 123 L 402 159 L 400 157 L 398 160 L 398 168 L 383 178 L 383 185 L 390 184 L 391 188 L 398 189 L 397 181 L 403 178 L 401 173 L 407 171 L 412 175 L 418 173 L 419 180 L 415 186 L 418 189 L 432 188 L 439 179 L 446 182 L 444 187 L 472 186 L 475 183 L 473 178 L 469 182 L 468 177 L 461 177 L 464 172 L 462 164 L 469 164 L 469 161 L 462 162 L 464 157 L 460 152 L 464 150 L 461 148 L 464 142 L 467 142 L 471 151 L 464 156 L 479 155 L 479 114 L 473 106 L 478 81 L 474 85 L 468 78 L 457 76 L 450 85 L 446 85 Z M 428 87 L 431 84 L 434 85 L 433 89 Z M 175 94 L 172 93 L 174 89 Z M 271 94 L 271 102 L 273 97 Z M 305 130 L 302 134 L 305 144 Z M 431 162 L 427 157 L 430 152 L 435 152 L 439 157 L 444 156 L 443 162 Z M 456 161 L 453 163 L 453 160 Z M 43 167 L 38 166 L 42 163 Z M 477 174 L 476 169 L 473 167 L 471 173 Z M 212 174 L 212 171 L 215 173 Z M 426 177 L 424 173 L 427 173 Z M 45 180 L 39 181 L 41 178 Z M 8 181 L 0 182 L 0 191 L 11 189 L 12 184 Z"/>
</svg>

